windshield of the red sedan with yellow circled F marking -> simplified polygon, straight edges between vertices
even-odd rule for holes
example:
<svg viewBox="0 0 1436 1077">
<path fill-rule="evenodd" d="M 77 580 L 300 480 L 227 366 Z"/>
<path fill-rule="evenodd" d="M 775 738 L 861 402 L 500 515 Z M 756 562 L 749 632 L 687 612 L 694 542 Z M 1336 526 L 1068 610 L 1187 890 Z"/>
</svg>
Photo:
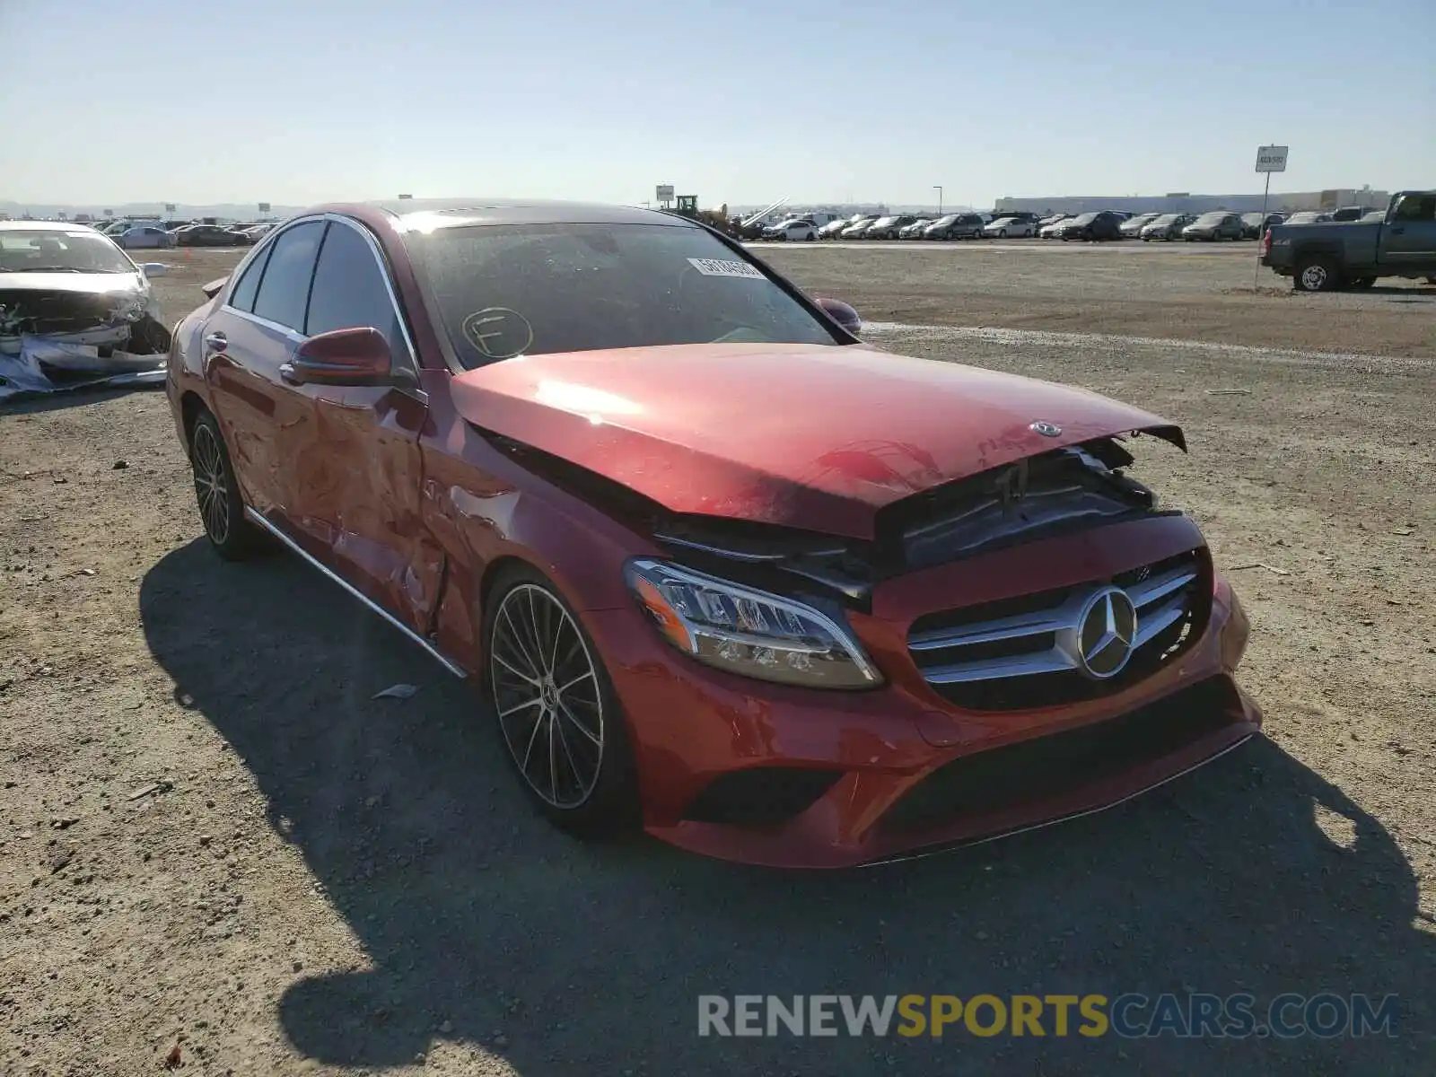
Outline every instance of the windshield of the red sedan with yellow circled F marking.
<svg viewBox="0 0 1436 1077">
<path fill-rule="evenodd" d="M 702 228 L 475 225 L 411 234 L 406 243 L 467 368 L 609 348 L 840 343 L 834 329 Z"/>
</svg>

